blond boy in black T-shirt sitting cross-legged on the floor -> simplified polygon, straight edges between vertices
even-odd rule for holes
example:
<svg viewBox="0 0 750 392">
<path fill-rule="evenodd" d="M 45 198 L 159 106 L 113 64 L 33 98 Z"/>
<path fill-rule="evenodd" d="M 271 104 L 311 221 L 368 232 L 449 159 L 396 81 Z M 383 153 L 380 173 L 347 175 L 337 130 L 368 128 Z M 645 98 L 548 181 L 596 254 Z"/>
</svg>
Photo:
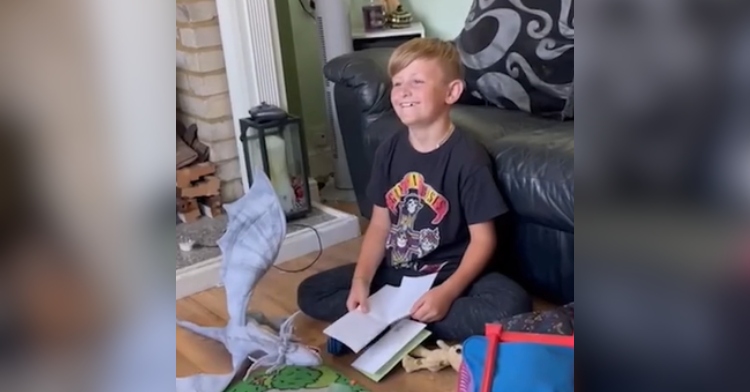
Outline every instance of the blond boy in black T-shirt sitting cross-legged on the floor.
<svg viewBox="0 0 750 392">
<path fill-rule="evenodd" d="M 368 311 L 367 298 L 403 276 L 437 272 L 411 310 L 438 339 L 463 341 L 485 323 L 531 311 L 515 282 L 485 273 L 493 219 L 508 211 L 487 151 L 457 129 L 450 108 L 464 89 L 458 52 L 438 39 L 411 40 L 391 56 L 391 103 L 408 127 L 377 149 L 367 194 L 374 206 L 356 264 L 311 276 L 300 310 L 333 322 Z"/>
</svg>

